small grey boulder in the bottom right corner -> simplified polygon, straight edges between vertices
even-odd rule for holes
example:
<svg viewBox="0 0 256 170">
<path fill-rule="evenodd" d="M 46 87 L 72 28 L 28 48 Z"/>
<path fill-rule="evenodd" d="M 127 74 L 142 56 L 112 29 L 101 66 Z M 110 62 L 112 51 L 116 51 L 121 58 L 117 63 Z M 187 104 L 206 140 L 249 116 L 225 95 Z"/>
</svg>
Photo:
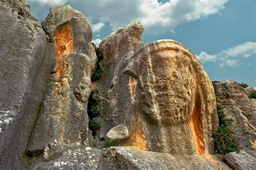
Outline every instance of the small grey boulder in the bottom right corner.
<svg viewBox="0 0 256 170">
<path fill-rule="evenodd" d="M 228 153 L 225 155 L 224 160 L 235 170 L 256 169 L 256 158 L 244 150 Z"/>
</svg>

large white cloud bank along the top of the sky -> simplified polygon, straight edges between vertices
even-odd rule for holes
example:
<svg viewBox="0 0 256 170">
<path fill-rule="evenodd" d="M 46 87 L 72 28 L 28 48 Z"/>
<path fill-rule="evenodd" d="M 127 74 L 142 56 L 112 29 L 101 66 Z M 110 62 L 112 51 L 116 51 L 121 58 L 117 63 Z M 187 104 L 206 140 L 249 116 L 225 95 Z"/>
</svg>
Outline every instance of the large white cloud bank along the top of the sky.
<svg viewBox="0 0 256 170">
<path fill-rule="evenodd" d="M 176 26 L 219 13 L 228 0 L 69 0 L 73 8 L 90 20 L 110 23 L 113 30 L 141 21 L 146 33 L 174 31 Z"/>
</svg>

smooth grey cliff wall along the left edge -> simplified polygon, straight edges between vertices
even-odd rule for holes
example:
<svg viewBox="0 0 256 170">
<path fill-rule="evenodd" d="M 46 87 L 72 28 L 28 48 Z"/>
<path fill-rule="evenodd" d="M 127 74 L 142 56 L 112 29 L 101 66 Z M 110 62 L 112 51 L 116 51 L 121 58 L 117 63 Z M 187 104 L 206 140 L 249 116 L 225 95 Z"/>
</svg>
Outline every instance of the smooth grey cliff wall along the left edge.
<svg viewBox="0 0 256 170">
<path fill-rule="evenodd" d="M 2 0 L 0 18 L 0 169 L 24 169 L 54 49 L 25 1 Z"/>
</svg>

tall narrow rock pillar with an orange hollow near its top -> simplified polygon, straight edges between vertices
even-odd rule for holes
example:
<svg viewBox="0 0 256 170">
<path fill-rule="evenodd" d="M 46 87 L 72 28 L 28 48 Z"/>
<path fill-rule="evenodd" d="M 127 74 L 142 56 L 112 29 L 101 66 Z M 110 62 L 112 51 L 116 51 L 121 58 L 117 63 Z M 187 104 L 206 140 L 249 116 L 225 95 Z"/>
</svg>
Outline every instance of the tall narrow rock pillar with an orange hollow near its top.
<svg viewBox="0 0 256 170">
<path fill-rule="evenodd" d="M 89 21 L 69 5 L 53 6 L 43 22 L 56 51 L 56 65 L 26 153 L 43 152 L 50 142 L 83 143 L 87 139 L 87 100 L 96 67 Z"/>
</svg>

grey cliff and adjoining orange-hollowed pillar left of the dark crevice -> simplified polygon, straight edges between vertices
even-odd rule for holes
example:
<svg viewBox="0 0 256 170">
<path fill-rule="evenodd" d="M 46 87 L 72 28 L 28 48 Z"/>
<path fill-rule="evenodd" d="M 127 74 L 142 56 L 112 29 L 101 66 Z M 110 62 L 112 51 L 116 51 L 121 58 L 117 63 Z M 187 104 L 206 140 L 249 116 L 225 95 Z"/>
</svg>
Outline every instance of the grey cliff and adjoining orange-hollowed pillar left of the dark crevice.
<svg viewBox="0 0 256 170">
<path fill-rule="evenodd" d="M 86 140 L 97 57 L 91 24 L 68 5 L 43 28 L 24 1 L 1 1 L 0 12 L 1 169 L 26 169 L 53 141 Z"/>
</svg>

